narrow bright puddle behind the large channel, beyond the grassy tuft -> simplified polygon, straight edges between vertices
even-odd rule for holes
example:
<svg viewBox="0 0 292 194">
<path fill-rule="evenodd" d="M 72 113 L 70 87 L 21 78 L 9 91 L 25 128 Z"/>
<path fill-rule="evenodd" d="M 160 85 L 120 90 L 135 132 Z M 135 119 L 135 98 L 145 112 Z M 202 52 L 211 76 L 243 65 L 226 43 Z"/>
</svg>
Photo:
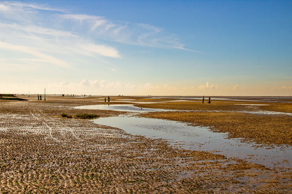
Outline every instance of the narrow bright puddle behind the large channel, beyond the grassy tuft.
<svg viewBox="0 0 292 194">
<path fill-rule="evenodd" d="M 97 109 L 97 110 L 112 110 L 112 111 L 129 111 L 129 112 L 153 112 L 153 111 L 171 111 L 165 109 L 148 109 L 135 107 L 128 104 L 98 104 L 98 105 L 86 105 L 78 106 L 76 109 Z"/>
</svg>

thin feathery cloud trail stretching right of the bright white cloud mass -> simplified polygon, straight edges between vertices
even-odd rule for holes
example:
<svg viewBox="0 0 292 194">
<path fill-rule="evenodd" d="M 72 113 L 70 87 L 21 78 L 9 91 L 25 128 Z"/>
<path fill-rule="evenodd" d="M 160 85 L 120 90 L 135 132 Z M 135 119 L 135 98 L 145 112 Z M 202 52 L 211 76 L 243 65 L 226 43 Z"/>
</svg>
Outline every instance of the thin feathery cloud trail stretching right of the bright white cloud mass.
<svg viewBox="0 0 292 194">
<path fill-rule="evenodd" d="M 74 14 L 57 14 L 56 16 L 62 24 L 69 23 L 74 29 L 98 35 L 103 39 L 146 47 L 195 51 L 184 48 L 177 35 L 149 24 L 110 21 L 102 16 Z"/>
</svg>

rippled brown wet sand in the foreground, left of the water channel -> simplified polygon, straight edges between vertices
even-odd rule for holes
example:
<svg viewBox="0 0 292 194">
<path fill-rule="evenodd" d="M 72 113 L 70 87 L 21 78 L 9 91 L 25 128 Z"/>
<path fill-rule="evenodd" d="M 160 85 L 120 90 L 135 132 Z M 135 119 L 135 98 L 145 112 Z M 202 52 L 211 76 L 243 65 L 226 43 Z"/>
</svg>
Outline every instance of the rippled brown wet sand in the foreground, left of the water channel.
<svg viewBox="0 0 292 194">
<path fill-rule="evenodd" d="M 73 108 L 103 99 L 0 100 L 0 193 L 292 193 L 291 169 L 279 172 L 59 117 L 122 113 Z"/>
</svg>

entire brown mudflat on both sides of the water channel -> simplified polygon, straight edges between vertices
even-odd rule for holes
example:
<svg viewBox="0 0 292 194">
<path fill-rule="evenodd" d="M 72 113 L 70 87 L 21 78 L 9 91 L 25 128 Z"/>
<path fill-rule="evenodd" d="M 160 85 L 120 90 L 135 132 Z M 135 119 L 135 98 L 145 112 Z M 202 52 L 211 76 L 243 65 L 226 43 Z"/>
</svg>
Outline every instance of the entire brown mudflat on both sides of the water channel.
<svg viewBox="0 0 292 194">
<path fill-rule="evenodd" d="M 179 149 L 163 139 L 60 116 L 125 113 L 74 108 L 108 103 L 104 97 L 21 98 L 29 100 L 0 100 L 0 193 L 292 193 L 289 168 L 270 169 L 216 153 Z M 128 98 L 131 102 L 127 97 L 112 97 L 110 103 L 177 110 L 140 116 L 208 126 L 228 132 L 230 138 L 260 144 L 291 146 L 292 116 L 249 113 L 291 113 L 286 102 L 256 102 L 269 104 L 256 106 L 236 105 L 246 101 L 201 104 L 197 100 Z"/>
</svg>

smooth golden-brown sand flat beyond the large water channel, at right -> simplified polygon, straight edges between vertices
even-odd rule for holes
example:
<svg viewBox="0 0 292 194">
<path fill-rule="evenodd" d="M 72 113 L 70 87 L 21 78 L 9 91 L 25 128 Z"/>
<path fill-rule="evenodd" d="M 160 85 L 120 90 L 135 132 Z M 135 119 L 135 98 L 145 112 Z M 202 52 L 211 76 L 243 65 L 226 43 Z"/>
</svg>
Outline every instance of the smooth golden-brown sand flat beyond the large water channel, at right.
<svg viewBox="0 0 292 194">
<path fill-rule="evenodd" d="M 242 104 L 242 105 L 241 105 Z M 246 101 L 211 104 L 201 101 L 139 104 L 138 107 L 176 110 L 153 112 L 144 117 L 169 119 L 210 127 L 213 131 L 228 132 L 230 138 L 244 138 L 266 145 L 292 145 L 292 104 L 262 102 L 264 106 L 246 105 Z M 184 112 L 181 112 L 184 110 Z M 180 111 L 180 112 L 179 112 Z"/>
</svg>

